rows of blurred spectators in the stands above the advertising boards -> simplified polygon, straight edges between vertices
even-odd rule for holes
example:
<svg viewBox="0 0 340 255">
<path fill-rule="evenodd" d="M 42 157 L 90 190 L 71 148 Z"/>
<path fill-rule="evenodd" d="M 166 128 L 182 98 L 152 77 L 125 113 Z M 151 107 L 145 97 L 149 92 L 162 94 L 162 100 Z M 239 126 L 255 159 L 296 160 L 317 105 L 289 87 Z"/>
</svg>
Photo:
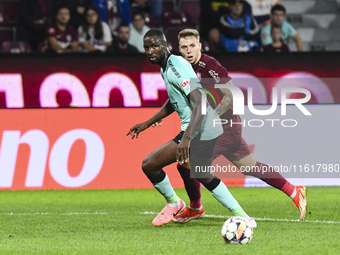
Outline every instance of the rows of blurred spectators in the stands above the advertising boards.
<svg viewBox="0 0 340 255">
<path fill-rule="evenodd" d="M 196 28 L 205 52 L 340 50 L 338 0 L 0 0 L 3 53 L 144 52 Z"/>
</svg>

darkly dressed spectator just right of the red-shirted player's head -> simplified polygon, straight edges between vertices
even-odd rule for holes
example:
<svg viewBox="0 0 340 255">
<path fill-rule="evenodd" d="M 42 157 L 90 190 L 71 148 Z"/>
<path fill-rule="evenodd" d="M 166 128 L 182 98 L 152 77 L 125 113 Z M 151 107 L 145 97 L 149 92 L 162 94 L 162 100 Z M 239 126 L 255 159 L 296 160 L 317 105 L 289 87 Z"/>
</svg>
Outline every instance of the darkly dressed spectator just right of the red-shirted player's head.
<svg viewBox="0 0 340 255">
<path fill-rule="evenodd" d="M 215 45 L 220 42 L 219 19 L 228 12 L 229 0 L 200 0 L 200 34 Z"/>
</svg>

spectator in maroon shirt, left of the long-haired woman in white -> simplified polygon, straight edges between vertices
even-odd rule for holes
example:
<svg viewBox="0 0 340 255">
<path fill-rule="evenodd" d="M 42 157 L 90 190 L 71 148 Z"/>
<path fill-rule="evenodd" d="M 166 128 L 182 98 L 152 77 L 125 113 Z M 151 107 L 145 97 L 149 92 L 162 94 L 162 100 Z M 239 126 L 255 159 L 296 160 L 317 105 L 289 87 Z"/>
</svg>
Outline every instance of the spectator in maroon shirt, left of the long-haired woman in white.
<svg viewBox="0 0 340 255">
<path fill-rule="evenodd" d="M 78 50 L 77 33 L 68 24 L 70 10 L 60 7 L 57 10 L 56 21 L 47 29 L 46 42 L 47 52 L 73 52 Z"/>
</svg>

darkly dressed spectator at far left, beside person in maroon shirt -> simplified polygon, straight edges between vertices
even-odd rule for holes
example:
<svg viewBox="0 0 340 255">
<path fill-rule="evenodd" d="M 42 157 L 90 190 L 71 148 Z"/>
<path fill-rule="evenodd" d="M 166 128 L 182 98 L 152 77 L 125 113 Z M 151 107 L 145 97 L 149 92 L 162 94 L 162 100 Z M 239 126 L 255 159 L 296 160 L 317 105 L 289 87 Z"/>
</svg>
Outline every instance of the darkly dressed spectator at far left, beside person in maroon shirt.
<svg viewBox="0 0 340 255">
<path fill-rule="evenodd" d="M 38 50 L 59 5 L 59 0 L 22 0 L 18 7 L 17 40 L 28 42 L 33 51 Z"/>
</svg>

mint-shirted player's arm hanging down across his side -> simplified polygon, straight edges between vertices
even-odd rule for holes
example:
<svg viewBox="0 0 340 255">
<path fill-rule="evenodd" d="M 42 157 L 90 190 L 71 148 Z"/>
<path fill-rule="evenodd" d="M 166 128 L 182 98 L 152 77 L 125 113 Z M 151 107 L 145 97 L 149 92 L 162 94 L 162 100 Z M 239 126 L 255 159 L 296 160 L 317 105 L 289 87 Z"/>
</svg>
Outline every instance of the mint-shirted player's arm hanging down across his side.
<svg viewBox="0 0 340 255">
<path fill-rule="evenodd" d="M 181 142 L 177 146 L 176 160 L 183 164 L 189 161 L 190 138 L 201 125 L 204 115 L 202 114 L 202 93 L 195 89 L 187 95 L 189 101 L 194 103 L 190 123 L 185 130 Z"/>
</svg>

